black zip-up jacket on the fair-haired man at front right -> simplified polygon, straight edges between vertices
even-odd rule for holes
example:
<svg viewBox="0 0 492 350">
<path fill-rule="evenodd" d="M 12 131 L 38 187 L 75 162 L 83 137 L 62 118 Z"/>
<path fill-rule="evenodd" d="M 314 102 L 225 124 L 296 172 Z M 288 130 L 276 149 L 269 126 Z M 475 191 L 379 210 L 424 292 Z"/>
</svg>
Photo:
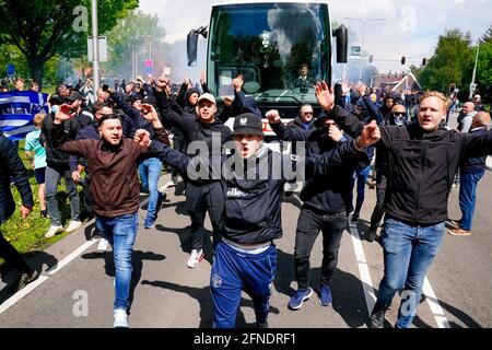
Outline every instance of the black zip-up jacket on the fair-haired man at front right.
<svg viewBox="0 0 492 350">
<path fill-rule="evenodd" d="M 348 116 L 336 119 L 345 127 L 360 125 Z M 433 225 L 447 219 L 447 200 L 456 171 L 466 158 L 492 153 L 492 131 L 482 135 L 446 130 L 444 124 L 424 132 L 419 124 L 380 127 L 377 148 L 389 156 L 385 210 L 412 225 Z"/>
</svg>

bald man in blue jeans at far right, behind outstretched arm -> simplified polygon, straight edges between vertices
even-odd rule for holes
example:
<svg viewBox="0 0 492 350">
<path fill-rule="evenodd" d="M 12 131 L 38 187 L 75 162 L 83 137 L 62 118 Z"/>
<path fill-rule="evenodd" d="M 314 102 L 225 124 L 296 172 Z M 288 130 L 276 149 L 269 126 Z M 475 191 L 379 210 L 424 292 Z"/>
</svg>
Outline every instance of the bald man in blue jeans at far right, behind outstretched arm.
<svg viewBox="0 0 492 350">
<path fill-rule="evenodd" d="M 490 114 L 485 112 L 478 113 L 472 120 L 472 135 L 484 135 L 490 126 Z M 485 173 L 487 156 L 470 156 L 462 160 L 459 164 L 460 186 L 459 186 L 459 208 L 461 209 L 461 220 L 450 223 L 456 229 L 448 230 L 447 233 L 454 236 L 471 235 L 471 223 L 475 212 L 477 185 Z"/>
</svg>

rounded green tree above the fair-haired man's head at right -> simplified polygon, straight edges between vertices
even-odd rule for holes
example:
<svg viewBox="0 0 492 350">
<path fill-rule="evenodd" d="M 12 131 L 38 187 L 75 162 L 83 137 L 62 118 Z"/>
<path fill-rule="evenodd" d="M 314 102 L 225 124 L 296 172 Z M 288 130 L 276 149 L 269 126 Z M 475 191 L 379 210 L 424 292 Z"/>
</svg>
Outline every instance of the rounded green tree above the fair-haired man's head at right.
<svg viewBox="0 0 492 350">
<path fill-rule="evenodd" d="M 424 89 L 446 92 L 450 83 L 465 91 L 471 81 L 473 50 L 470 34 L 459 30 L 440 36 L 434 56 L 418 79 Z"/>
</svg>

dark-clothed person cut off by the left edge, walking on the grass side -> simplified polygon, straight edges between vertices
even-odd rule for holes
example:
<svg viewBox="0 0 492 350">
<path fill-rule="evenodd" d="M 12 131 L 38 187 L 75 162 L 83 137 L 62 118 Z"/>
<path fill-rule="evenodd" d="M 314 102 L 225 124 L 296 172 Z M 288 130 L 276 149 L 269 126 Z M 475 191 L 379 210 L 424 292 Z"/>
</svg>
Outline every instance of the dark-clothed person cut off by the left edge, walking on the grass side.
<svg viewBox="0 0 492 350">
<path fill-rule="evenodd" d="M 22 219 L 25 219 L 34 207 L 27 171 L 19 158 L 15 144 L 5 138 L 0 130 L 0 224 L 9 220 L 15 210 L 15 202 L 10 190 L 11 176 L 21 194 L 21 214 Z M 27 266 L 21 254 L 3 237 L 1 231 L 0 257 L 17 270 L 17 278 L 14 284 L 9 288 L 9 292 L 19 291 L 38 277 L 38 272 Z"/>
</svg>

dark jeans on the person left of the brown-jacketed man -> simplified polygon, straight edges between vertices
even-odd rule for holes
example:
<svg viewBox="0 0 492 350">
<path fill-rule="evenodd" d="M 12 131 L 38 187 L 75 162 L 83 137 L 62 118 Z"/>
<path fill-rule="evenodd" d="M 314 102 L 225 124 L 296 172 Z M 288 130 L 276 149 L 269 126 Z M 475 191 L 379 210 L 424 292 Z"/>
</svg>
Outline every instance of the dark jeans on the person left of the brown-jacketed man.
<svg viewBox="0 0 492 350">
<path fill-rule="evenodd" d="M 52 225 L 61 225 L 61 215 L 58 209 L 58 184 L 61 177 L 65 178 L 65 186 L 70 198 L 70 217 L 72 220 L 79 220 L 80 198 L 77 191 L 77 185 L 72 179 L 72 173 L 66 167 L 46 166 L 45 184 L 46 184 L 46 207 Z"/>
</svg>

